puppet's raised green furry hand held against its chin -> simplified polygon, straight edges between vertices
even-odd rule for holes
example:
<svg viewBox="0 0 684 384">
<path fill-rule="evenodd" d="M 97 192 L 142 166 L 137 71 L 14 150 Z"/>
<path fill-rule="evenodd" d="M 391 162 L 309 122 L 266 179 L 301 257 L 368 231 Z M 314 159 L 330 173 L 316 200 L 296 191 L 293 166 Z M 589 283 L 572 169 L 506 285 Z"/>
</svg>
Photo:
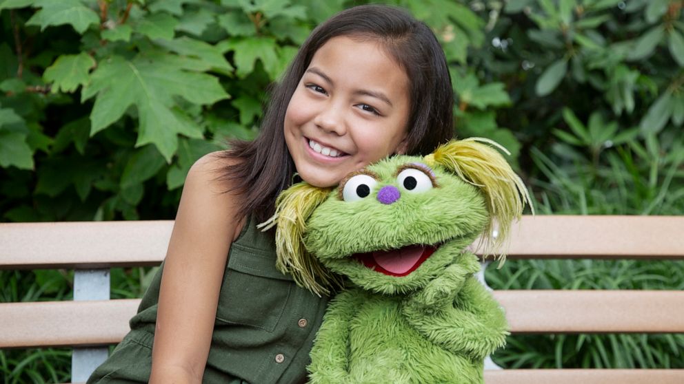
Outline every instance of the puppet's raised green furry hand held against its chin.
<svg viewBox="0 0 684 384">
<path fill-rule="evenodd" d="M 430 281 L 423 290 L 410 295 L 404 303 L 404 311 L 413 316 L 434 314 L 452 307 L 465 279 L 480 270 L 480 263 L 472 253 L 456 257 L 454 264 L 444 268 L 443 273 Z"/>
</svg>

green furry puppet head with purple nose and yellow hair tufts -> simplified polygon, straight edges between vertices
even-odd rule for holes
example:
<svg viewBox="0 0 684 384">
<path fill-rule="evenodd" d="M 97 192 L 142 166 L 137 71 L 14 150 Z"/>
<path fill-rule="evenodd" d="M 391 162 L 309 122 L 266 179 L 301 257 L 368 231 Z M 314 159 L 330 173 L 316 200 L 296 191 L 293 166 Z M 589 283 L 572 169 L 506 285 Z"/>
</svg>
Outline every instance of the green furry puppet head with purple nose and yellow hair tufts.
<svg viewBox="0 0 684 384">
<path fill-rule="evenodd" d="M 371 164 L 335 189 L 295 184 L 262 224 L 277 224 L 278 267 L 319 295 L 339 284 L 338 275 L 395 294 L 425 286 L 478 237 L 503 259 L 512 221 L 529 196 L 485 143 L 499 147 L 485 139 L 452 140 L 425 157 Z"/>
</svg>

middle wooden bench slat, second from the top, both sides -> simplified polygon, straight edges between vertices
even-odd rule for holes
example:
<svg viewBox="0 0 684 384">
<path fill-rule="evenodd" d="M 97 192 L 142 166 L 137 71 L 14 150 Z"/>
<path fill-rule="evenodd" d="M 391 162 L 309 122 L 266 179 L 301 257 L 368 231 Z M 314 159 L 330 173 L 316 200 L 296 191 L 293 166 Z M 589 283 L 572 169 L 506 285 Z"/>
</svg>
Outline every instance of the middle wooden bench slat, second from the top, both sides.
<svg viewBox="0 0 684 384">
<path fill-rule="evenodd" d="M 514 333 L 684 332 L 682 291 L 507 290 L 494 296 Z M 0 303 L 0 348 L 118 343 L 139 302 Z"/>
</svg>

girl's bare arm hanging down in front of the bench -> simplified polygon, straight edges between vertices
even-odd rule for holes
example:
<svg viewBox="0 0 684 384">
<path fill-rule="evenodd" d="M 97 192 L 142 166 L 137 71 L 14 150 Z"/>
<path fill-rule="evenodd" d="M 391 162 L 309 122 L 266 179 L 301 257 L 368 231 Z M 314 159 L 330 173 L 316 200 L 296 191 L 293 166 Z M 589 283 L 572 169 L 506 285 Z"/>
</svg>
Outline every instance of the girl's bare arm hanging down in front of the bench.
<svg viewBox="0 0 684 384">
<path fill-rule="evenodd" d="M 164 262 L 150 383 L 201 383 L 228 248 L 243 222 L 238 200 L 214 180 L 227 160 L 210 153 L 190 169 Z"/>
</svg>

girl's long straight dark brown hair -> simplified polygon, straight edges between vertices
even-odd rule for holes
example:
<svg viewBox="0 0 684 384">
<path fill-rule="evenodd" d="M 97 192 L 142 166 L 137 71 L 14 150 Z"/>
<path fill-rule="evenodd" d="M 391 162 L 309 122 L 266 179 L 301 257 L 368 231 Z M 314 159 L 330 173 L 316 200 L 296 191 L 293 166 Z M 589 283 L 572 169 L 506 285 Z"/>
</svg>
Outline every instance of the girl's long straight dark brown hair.
<svg viewBox="0 0 684 384">
<path fill-rule="evenodd" d="M 319 25 L 301 45 L 281 83 L 273 88 L 261 131 L 254 141 L 234 140 L 224 158 L 237 159 L 221 169 L 240 196 L 241 217 L 252 213 L 263 222 L 274 211 L 276 196 L 296 172 L 285 144 L 285 111 L 314 53 L 336 36 L 376 39 L 405 70 L 411 111 L 407 154 L 427 154 L 453 136 L 454 94 L 444 52 L 430 28 L 407 12 L 388 6 L 358 6 Z"/>
</svg>

